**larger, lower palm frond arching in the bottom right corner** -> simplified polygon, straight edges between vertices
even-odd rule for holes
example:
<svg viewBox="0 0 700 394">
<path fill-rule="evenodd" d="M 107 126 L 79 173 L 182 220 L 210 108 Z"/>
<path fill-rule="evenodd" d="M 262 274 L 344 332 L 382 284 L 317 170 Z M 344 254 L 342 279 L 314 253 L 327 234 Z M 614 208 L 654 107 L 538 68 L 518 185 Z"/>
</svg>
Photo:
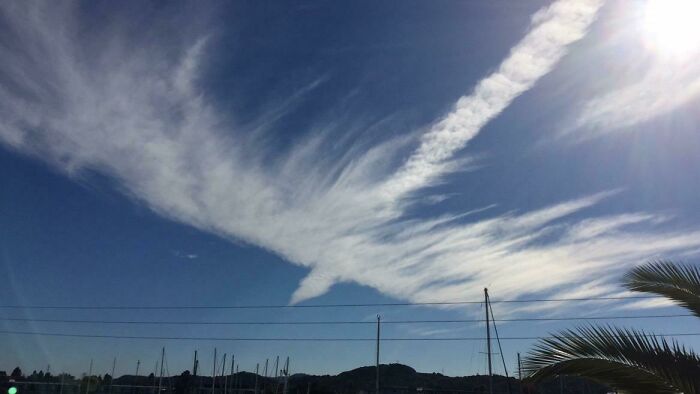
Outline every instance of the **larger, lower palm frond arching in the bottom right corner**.
<svg viewBox="0 0 700 394">
<path fill-rule="evenodd" d="M 643 331 L 584 327 L 542 339 L 524 362 L 529 379 L 590 378 L 629 393 L 700 393 L 700 357 Z"/>
</svg>

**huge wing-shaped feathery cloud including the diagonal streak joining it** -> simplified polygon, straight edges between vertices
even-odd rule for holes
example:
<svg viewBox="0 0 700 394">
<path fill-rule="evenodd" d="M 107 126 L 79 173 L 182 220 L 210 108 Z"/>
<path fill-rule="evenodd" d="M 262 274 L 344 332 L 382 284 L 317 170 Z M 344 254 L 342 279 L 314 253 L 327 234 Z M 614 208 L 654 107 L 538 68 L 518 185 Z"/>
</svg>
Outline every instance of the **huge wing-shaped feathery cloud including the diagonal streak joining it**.
<svg viewBox="0 0 700 394">
<path fill-rule="evenodd" d="M 266 164 L 265 147 L 199 90 L 206 38 L 166 53 L 157 43 L 133 49 L 113 37 L 88 53 L 70 28 L 71 9 L 2 6 L 18 44 L 0 47 L 0 140 L 69 175 L 104 173 L 162 216 L 308 267 L 292 302 L 338 282 L 413 301 L 475 297 L 484 285 L 502 297 L 564 286 L 606 292 L 606 282 L 587 284 L 599 269 L 700 247 L 699 232 L 661 230 L 666 218 L 654 214 L 570 219 L 614 192 L 478 221 L 405 215 L 411 197 L 460 168 L 458 152 L 586 34 L 601 1 L 560 0 L 537 12 L 497 70 L 398 166 L 391 163 L 410 142 L 331 161 L 309 139 Z"/>
</svg>

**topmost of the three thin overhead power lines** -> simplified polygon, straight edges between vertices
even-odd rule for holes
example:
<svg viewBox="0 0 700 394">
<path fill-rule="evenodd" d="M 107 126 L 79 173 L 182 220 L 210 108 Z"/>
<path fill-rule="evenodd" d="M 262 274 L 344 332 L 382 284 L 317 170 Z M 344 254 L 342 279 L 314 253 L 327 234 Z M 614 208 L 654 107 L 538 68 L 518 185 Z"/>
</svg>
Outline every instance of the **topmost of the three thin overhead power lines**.
<svg viewBox="0 0 700 394">
<path fill-rule="evenodd" d="M 492 300 L 494 304 L 534 303 L 534 302 L 587 302 L 587 301 L 624 301 L 660 299 L 661 296 L 619 296 L 586 298 L 539 298 L 522 300 Z M 363 304 L 297 304 L 297 305 L 0 305 L 0 309 L 70 309 L 70 310 L 168 310 L 168 309 L 286 309 L 286 308 L 362 308 L 392 306 L 429 306 L 429 305 L 468 305 L 482 304 L 483 301 L 444 301 L 444 302 L 381 302 Z"/>
</svg>

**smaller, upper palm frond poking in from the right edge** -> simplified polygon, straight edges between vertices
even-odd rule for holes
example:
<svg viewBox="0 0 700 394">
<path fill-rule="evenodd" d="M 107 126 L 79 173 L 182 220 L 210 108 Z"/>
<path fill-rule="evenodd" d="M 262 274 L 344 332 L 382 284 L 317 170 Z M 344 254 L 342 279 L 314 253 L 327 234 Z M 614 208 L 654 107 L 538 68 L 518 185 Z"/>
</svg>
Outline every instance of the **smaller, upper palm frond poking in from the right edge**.
<svg viewBox="0 0 700 394">
<path fill-rule="evenodd" d="M 658 261 L 632 269 L 623 278 L 631 290 L 676 301 L 700 317 L 700 267 Z"/>
</svg>

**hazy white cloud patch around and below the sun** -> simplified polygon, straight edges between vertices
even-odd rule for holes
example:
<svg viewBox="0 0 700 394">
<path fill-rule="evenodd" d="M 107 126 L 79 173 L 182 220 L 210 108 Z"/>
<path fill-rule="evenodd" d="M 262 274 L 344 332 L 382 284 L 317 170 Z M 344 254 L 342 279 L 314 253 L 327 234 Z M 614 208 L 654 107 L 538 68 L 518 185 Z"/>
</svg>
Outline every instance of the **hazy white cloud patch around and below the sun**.
<svg viewBox="0 0 700 394">
<path fill-rule="evenodd" d="M 605 62 L 593 65 L 599 69 L 597 77 L 608 83 L 605 90 L 572 111 L 563 127 L 566 137 L 586 140 L 630 131 L 632 126 L 670 114 L 700 98 L 700 66 L 696 61 L 700 47 L 686 45 L 678 50 L 674 49 L 678 43 L 673 41 L 683 37 L 671 41 L 659 37 L 669 34 L 674 26 L 658 25 L 658 21 L 650 26 L 650 19 L 683 9 L 661 4 L 644 1 L 611 7 L 611 20 L 615 22 L 609 22 L 607 42 L 595 53 L 612 66 L 606 67 Z M 669 18 L 667 23 L 677 22 L 681 30 L 690 29 L 683 26 L 683 21 L 674 21 L 677 18 L 661 17 Z M 685 36 L 692 42 L 690 30 Z"/>
</svg>

